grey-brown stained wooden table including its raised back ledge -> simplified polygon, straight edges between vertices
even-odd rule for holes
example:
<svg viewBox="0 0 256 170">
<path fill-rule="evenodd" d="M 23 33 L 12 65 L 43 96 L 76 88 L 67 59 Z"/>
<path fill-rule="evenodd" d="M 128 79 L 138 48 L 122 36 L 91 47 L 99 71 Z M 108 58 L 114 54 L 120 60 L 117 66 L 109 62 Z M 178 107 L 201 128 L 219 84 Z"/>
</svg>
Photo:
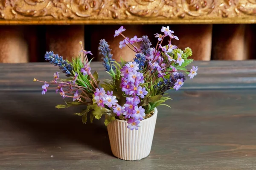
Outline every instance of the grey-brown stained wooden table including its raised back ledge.
<svg viewBox="0 0 256 170">
<path fill-rule="evenodd" d="M 41 95 L 32 79 L 50 80 L 56 67 L 0 64 L 0 170 L 256 170 L 256 61 L 194 65 L 195 79 L 169 91 L 172 108 L 158 108 L 150 155 L 123 161 L 104 120 L 82 124 L 80 108 Z M 99 62 L 92 69 L 107 77 Z"/>
</svg>

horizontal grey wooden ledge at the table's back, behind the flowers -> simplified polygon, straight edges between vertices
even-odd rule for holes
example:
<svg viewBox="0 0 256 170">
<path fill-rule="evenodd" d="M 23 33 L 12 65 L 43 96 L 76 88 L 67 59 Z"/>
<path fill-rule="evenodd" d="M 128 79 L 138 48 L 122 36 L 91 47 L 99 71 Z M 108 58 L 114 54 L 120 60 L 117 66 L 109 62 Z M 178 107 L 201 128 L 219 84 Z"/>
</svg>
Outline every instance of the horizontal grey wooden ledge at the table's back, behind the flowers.
<svg viewBox="0 0 256 170">
<path fill-rule="evenodd" d="M 195 61 L 198 65 L 196 79 L 187 80 L 183 89 L 217 89 L 217 88 L 256 88 L 256 61 Z M 99 79 L 107 77 L 102 62 L 92 62 L 92 71 L 98 71 Z M 49 63 L 0 64 L 0 90 L 39 90 L 41 84 L 32 82 L 33 78 L 42 81 L 53 79 L 57 67 Z M 61 71 L 60 71 L 61 72 Z M 64 74 L 61 74 L 64 77 Z"/>
</svg>

